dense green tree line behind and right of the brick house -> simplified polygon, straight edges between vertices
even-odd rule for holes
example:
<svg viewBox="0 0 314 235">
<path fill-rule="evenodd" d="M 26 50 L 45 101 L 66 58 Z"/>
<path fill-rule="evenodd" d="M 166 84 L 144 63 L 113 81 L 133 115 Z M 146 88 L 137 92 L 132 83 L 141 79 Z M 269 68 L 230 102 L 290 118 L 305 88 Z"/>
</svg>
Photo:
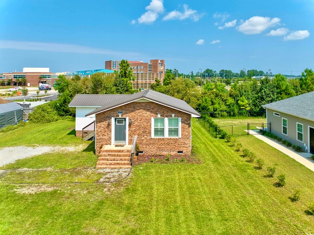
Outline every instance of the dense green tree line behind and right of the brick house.
<svg viewBox="0 0 314 235">
<path fill-rule="evenodd" d="M 294 79 L 276 74 L 273 78 L 245 77 L 232 81 L 223 78 L 176 78 L 173 71 L 167 70 L 163 85 L 157 82 L 152 89 L 182 99 L 201 113 L 237 115 L 262 111 L 263 104 L 314 91 L 314 73 L 312 69 L 305 69 L 300 78 Z"/>
</svg>

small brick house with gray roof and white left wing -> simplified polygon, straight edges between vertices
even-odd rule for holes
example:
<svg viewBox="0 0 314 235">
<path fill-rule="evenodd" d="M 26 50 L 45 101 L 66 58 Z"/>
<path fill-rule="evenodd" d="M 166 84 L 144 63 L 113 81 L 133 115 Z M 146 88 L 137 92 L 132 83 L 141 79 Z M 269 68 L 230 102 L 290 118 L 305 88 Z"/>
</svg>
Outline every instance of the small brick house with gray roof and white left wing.
<svg viewBox="0 0 314 235">
<path fill-rule="evenodd" d="M 77 109 L 77 134 L 85 124 L 96 121 L 96 155 L 105 146 L 131 145 L 134 135 L 144 155 L 190 155 L 191 117 L 201 116 L 186 102 L 153 90 L 77 95 L 69 106 Z"/>
</svg>

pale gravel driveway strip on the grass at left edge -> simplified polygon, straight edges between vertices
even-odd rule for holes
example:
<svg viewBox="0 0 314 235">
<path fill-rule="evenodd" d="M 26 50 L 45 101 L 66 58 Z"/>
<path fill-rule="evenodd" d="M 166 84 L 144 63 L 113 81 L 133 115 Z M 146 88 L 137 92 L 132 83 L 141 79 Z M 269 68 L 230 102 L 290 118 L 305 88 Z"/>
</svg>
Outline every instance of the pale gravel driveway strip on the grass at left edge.
<svg viewBox="0 0 314 235">
<path fill-rule="evenodd" d="M 52 151 L 75 151 L 74 147 L 52 147 L 52 146 L 37 146 L 37 147 L 6 147 L 0 149 L 0 166 L 15 162 L 17 159 L 33 157 L 36 155 L 45 154 Z"/>
</svg>

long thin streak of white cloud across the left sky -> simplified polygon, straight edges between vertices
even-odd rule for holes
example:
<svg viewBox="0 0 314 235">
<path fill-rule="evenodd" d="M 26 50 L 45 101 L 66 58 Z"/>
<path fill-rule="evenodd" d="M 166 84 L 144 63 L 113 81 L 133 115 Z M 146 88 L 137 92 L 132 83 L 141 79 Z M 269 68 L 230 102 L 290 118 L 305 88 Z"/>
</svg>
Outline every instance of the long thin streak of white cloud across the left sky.
<svg viewBox="0 0 314 235">
<path fill-rule="evenodd" d="M 61 43 L 42 43 L 42 42 L 24 42 L 24 41 L 10 41 L 0 40 L 0 48 L 14 49 L 14 50 L 27 50 L 27 51 L 46 51 L 46 52 L 70 52 L 82 54 L 105 54 L 116 56 L 136 56 L 139 53 L 133 52 L 118 52 L 106 50 L 103 48 L 92 48 L 74 44 L 61 44 Z"/>
</svg>

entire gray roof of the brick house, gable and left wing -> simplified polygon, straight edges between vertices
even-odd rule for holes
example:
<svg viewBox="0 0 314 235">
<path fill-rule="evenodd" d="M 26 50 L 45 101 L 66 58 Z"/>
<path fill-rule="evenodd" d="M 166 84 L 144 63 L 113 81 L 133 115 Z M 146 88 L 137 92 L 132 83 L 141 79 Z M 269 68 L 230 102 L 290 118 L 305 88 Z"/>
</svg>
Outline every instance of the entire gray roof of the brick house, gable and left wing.
<svg viewBox="0 0 314 235">
<path fill-rule="evenodd" d="M 82 97 L 78 97 L 76 99 L 77 96 L 82 96 Z M 114 108 L 116 106 L 128 104 L 133 101 L 140 100 L 140 99 L 146 99 L 152 102 L 156 102 L 158 104 L 166 105 L 174 109 L 178 109 L 183 112 L 195 115 L 197 117 L 201 116 L 194 108 L 188 105 L 185 101 L 179 100 L 177 98 L 174 98 L 174 97 L 171 97 L 171 96 L 168 96 L 168 95 L 165 95 L 165 94 L 162 94 L 157 91 L 150 90 L 150 89 L 141 91 L 132 95 L 94 95 L 95 97 L 86 97 L 86 99 L 84 98 L 84 96 L 87 96 L 87 95 L 77 95 L 77 96 L 69 104 L 70 107 L 98 106 L 97 104 L 101 104 L 101 102 L 97 101 L 97 99 L 102 100 L 103 102 L 103 105 L 101 107 L 86 114 L 85 116 L 89 116 L 95 113 L 100 113 L 105 110 Z M 91 95 L 88 95 L 88 96 L 91 96 Z M 111 97 L 111 96 L 114 96 L 114 97 Z"/>
</svg>

